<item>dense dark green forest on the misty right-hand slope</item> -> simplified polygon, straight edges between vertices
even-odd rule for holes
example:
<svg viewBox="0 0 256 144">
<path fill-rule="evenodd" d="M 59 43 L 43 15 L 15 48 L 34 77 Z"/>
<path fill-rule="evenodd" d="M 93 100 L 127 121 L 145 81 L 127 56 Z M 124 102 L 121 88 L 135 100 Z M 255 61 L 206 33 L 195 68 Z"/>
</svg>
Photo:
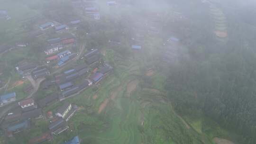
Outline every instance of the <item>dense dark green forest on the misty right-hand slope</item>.
<svg viewBox="0 0 256 144">
<path fill-rule="evenodd" d="M 225 9 L 225 8 L 223 8 Z M 242 135 L 244 144 L 256 144 L 256 54 L 253 20 L 225 9 L 229 14 L 229 38 L 220 42 L 205 27 L 207 23 L 188 24 L 186 40 L 189 59 L 180 57 L 172 65 L 166 90 L 175 109 L 183 115 L 210 117 L 221 126 Z M 233 9 L 232 9 L 233 10 Z M 247 11 L 247 10 L 245 10 Z M 240 22 L 241 19 L 247 19 Z"/>
</svg>

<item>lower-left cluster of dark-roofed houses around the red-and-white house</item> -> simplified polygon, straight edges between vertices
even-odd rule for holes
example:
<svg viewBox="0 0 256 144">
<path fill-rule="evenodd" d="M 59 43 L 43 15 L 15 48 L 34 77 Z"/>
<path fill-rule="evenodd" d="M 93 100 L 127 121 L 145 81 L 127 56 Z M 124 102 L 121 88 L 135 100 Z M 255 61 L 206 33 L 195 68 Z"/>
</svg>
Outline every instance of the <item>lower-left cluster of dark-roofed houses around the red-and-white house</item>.
<svg viewBox="0 0 256 144">
<path fill-rule="evenodd" d="M 29 129 L 31 119 L 42 117 L 42 109 L 37 107 L 34 99 L 25 99 L 19 101 L 16 107 L 9 110 L 1 122 L 1 128 L 11 137 L 13 134 Z"/>
</svg>

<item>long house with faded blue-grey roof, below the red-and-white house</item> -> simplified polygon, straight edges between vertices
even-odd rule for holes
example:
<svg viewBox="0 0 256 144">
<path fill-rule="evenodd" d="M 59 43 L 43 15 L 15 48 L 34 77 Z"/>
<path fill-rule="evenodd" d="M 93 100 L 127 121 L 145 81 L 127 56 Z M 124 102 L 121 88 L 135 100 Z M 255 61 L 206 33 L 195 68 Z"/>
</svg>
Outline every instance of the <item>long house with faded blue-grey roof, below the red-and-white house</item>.
<svg viewBox="0 0 256 144">
<path fill-rule="evenodd" d="M 7 127 L 7 132 L 16 134 L 22 130 L 30 127 L 30 121 L 25 120 L 23 122 L 15 123 Z"/>
</svg>

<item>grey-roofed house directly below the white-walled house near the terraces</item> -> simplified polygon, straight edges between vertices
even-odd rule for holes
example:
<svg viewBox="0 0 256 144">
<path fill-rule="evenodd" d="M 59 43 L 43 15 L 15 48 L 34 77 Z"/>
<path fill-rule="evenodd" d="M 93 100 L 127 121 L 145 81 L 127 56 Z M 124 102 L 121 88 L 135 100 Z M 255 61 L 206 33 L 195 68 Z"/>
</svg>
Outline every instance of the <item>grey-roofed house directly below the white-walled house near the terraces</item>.
<svg viewBox="0 0 256 144">
<path fill-rule="evenodd" d="M 54 135 L 59 135 L 68 128 L 69 126 L 67 126 L 67 123 L 63 118 L 57 118 L 49 125 L 49 130 Z"/>
</svg>

